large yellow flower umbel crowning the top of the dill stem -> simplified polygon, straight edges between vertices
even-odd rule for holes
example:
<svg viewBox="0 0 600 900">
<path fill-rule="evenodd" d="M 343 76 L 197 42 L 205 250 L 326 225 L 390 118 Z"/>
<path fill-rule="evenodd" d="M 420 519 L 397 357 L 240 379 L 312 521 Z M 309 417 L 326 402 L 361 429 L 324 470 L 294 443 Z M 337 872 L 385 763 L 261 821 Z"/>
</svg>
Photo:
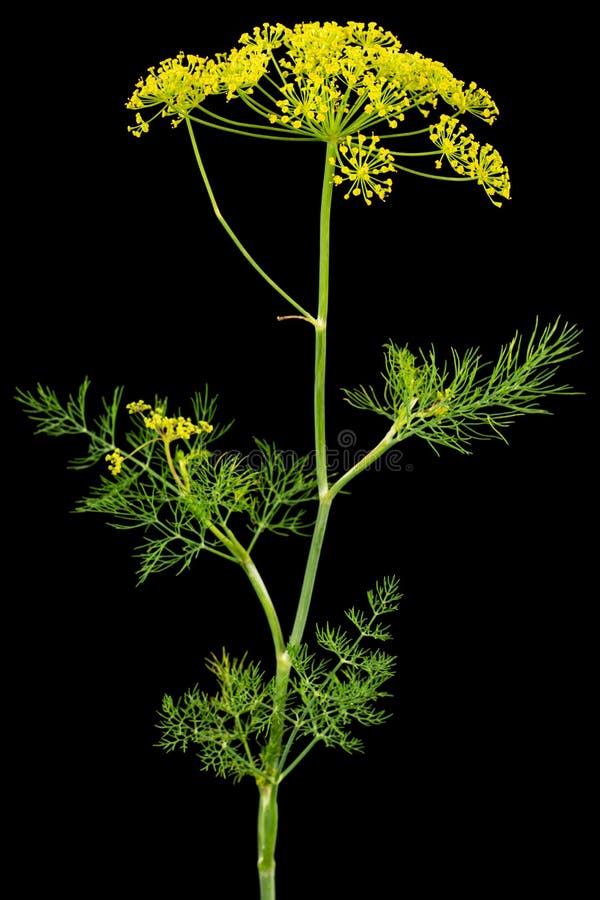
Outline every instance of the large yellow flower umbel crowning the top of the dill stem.
<svg viewBox="0 0 600 900">
<path fill-rule="evenodd" d="M 230 116 L 234 100 L 243 109 Z M 325 142 L 334 183 L 367 204 L 386 198 L 389 176 L 398 172 L 474 181 L 496 206 L 510 197 L 498 151 L 466 136 L 459 123 L 466 115 L 488 125 L 496 120 L 487 91 L 404 50 L 375 22 L 264 24 L 241 35 L 229 53 L 181 51 L 148 70 L 127 106 L 138 137 L 167 117 L 173 125 L 185 120 L 269 140 Z M 423 137 L 426 149 L 419 147 Z M 415 159 L 425 163 L 420 170 L 407 164 Z M 443 162 L 453 174 L 437 174 Z"/>
</svg>

